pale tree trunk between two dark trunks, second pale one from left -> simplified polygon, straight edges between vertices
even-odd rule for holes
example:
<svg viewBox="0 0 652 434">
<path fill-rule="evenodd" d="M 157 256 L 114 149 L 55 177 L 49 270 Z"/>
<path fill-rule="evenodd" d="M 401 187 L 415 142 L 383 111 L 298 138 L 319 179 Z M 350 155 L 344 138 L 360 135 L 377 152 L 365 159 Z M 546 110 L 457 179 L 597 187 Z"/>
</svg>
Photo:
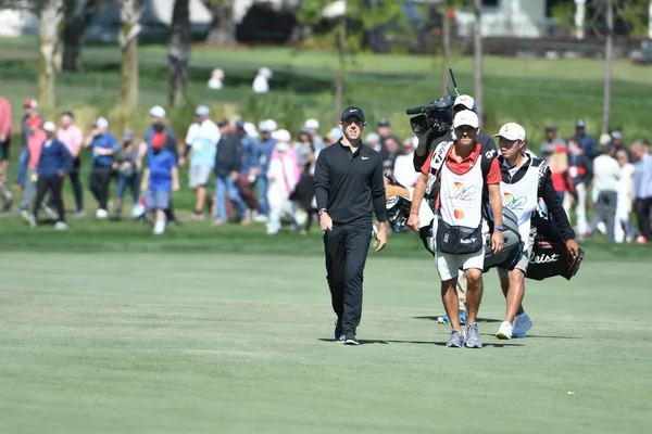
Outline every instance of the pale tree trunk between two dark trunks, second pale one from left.
<svg viewBox="0 0 652 434">
<path fill-rule="evenodd" d="M 118 34 L 123 58 L 120 68 L 120 102 L 125 113 L 138 107 L 138 34 L 143 0 L 118 0 L 122 28 Z"/>
</svg>

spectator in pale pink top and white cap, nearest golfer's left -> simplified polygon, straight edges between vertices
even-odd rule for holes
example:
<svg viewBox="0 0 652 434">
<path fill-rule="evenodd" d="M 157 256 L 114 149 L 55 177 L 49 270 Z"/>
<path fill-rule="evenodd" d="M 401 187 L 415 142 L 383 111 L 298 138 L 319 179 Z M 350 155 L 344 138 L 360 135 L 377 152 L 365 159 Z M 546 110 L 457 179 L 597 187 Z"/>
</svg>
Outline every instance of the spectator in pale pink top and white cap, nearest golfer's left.
<svg viewBox="0 0 652 434">
<path fill-rule="evenodd" d="M 267 201 L 269 203 L 269 220 L 267 222 L 267 234 L 276 234 L 284 219 L 293 219 L 293 209 L 290 194 L 299 182 L 300 173 L 297 158 L 292 156 L 290 145 L 292 137 L 288 130 L 279 129 L 272 133 L 276 143 L 267 170 Z M 298 229 L 298 228 L 296 228 Z"/>
</svg>

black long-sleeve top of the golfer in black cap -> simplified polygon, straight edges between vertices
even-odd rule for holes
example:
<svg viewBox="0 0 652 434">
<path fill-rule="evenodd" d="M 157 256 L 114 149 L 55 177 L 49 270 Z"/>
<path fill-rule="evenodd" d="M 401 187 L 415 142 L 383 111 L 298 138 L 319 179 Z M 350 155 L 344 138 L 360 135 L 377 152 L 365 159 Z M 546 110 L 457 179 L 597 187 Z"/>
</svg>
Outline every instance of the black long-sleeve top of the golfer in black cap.
<svg viewBox="0 0 652 434">
<path fill-rule="evenodd" d="M 387 221 L 383 159 L 360 143 L 354 153 L 341 141 L 322 150 L 314 175 L 317 209 L 326 208 L 335 224 L 371 218 Z"/>
</svg>

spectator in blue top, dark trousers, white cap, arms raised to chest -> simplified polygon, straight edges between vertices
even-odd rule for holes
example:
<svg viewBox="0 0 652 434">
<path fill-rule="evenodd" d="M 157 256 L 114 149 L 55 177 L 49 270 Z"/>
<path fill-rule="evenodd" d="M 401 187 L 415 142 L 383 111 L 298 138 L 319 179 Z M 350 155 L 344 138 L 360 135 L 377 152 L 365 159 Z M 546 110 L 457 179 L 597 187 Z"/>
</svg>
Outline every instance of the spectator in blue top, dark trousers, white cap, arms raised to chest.
<svg viewBox="0 0 652 434">
<path fill-rule="evenodd" d="M 90 135 L 84 142 L 85 148 L 90 148 L 92 167 L 90 169 L 90 191 L 98 201 L 97 218 L 109 217 L 109 184 L 113 175 L 114 154 L 120 150 L 117 139 L 109 132 L 109 120 L 99 117 Z"/>
</svg>

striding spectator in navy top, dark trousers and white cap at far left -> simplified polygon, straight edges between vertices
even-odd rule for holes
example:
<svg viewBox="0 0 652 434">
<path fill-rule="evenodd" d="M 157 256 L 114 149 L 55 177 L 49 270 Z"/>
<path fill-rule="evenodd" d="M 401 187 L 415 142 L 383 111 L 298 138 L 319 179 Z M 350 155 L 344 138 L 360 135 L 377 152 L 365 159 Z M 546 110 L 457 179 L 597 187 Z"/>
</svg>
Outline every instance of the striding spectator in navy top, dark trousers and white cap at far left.
<svg viewBox="0 0 652 434">
<path fill-rule="evenodd" d="M 73 165 L 73 155 L 65 145 L 57 139 L 57 126 L 54 123 L 43 124 L 47 138 L 42 143 L 37 166 L 38 183 L 36 189 L 36 201 L 32 215 L 27 218 L 30 227 L 36 226 L 38 210 L 48 191 L 51 192 L 57 206 L 57 224 L 54 229 L 67 229 L 65 222 L 65 208 L 61 195 L 63 179 Z"/>
</svg>

